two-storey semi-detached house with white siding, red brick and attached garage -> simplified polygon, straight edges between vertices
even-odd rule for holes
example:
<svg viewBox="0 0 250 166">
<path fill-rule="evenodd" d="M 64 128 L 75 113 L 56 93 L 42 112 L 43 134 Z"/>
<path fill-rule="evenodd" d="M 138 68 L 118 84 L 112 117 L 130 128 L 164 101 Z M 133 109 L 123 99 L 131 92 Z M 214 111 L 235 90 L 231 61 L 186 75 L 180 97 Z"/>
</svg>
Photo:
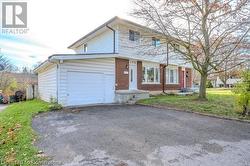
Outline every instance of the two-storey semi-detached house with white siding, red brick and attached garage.
<svg viewBox="0 0 250 166">
<path fill-rule="evenodd" d="M 147 34 L 155 37 L 146 39 Z M 166 53 L 140 54 L 138 46 L 143 42 L 166 50 L 160 36 L 147 27 L 112 18 L 68 47 L 76 54 L 52 55 L 35 69 L 40 98 L 73 106 L 127 102 L 163 87 L 191 88 L 193 69 L 177 53 L 169 55 L 166 68 Z"/>
</svg>

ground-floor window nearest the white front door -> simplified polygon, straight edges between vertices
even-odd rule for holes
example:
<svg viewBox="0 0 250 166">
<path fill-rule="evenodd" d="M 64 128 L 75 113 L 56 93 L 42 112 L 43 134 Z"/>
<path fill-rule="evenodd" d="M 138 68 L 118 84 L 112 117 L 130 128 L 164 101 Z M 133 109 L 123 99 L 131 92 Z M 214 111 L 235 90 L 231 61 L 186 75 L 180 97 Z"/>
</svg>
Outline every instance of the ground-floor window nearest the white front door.
<svg viewBox="0 0 250 166">
<path fill-rule="evenodd" d="M 143 83 L 159 83 L 160 71 L 159 67 L 143 66 L 142 68 L 142 82 Z"/>
</svg>

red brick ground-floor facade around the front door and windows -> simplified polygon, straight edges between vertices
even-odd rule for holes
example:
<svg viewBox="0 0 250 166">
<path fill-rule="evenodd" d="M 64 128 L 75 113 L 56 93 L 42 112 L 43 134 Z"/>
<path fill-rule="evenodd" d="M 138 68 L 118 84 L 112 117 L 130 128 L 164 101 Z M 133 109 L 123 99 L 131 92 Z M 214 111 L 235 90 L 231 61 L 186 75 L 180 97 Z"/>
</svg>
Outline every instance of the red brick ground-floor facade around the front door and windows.
<svg viewBox="0 0 250 166">
<path fill-rule="evenodd" d="M 163 65 L 160 66 L 160 83 L 159 84 L 144 84 L 142 83 L 142 62 L 137 61 L 137 88 L 139 90 L 148 91 L 161 91 L 163 88 L 163 77 L 166 75 L 163 73 Z M 129 89 L 129 60 L 126 59 L 115 59 L 116 69 L 116 90 L 128 90 Z M 182 80 L 186 78 L 186 87 L 192 86 L 192 70 L 190 68 L 185 69 L 185 73 L 182 72 L 182 68 L 178 68 L 179 84 L 165 84 L 165 90 L 180 90 L 182 87 Z M 183 75 L 184 74 L 184 75 Z M 166 80 L 166 78 L 165 78 Z"/>
</svg>

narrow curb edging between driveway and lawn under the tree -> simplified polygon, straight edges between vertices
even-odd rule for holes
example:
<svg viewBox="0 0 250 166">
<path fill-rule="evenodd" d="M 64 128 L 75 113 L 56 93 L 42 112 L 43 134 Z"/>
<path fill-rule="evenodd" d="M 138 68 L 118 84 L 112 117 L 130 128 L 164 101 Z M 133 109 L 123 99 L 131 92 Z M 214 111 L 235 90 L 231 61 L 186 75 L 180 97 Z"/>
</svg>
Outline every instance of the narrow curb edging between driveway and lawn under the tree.
<svg viewBox="0 0 250 166">
<path fill-rule="evenodd" d="M 226 117 L 226 116 L 218 116 L 218 115 L 213 115 L 213 114 L 206 114 L 206 113 L 195 112 L 195 111 L 179 109 L 179 108 L 174 108 L 174 107 L 159 106 L 159 105 L 148 105 L 148 104 L 140 104 L 140 103 L 136 103 L 136 105 L 153 107 L 153 108 L 160 108 L 160 109 L 165 109 L 165 110 L 169 110 L 169 111 L 173 110 L 173 111 L 194 113 L 194 114 L 197 114 L 197 115 L 208 116 L 208 117 L 212 117 L 212 118 L 218 118 L 218 119 L 224 119 L 224 120 L 232 120 L 232 121 L 238 121 L 238 122 L 244 122 L 244 123 L 249 123 L 250 124 L 250 120 L 243 120 L 243 119 L 237 119 L 237 118 L 230 118 L 230 117 Z"/>
</svg>

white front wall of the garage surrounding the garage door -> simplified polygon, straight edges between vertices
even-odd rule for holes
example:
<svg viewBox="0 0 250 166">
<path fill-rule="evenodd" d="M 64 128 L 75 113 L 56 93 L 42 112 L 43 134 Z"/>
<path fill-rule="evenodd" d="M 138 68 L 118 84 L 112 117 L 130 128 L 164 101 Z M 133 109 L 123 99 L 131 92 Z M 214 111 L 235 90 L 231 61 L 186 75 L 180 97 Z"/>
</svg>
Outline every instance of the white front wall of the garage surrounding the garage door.
<svg viewBox="0 0 250 166">
<path fill-rule="evenodd" d="M 114 58 L 98 58 L 86 60 L 70 60 L 60 64 L 59 75 L 59 103 L 66 106 L 68 102 L 68 74 L 70 72 L 103 74 L 105 85 L 102 86 L 105 90 L 104 103 L 114 102 L 115 89 L 115 59 Z M 113 90 L 110 90 L 113 89 Z M 96 89 L 89 89 L 95 91 Z"/>
</svg>

